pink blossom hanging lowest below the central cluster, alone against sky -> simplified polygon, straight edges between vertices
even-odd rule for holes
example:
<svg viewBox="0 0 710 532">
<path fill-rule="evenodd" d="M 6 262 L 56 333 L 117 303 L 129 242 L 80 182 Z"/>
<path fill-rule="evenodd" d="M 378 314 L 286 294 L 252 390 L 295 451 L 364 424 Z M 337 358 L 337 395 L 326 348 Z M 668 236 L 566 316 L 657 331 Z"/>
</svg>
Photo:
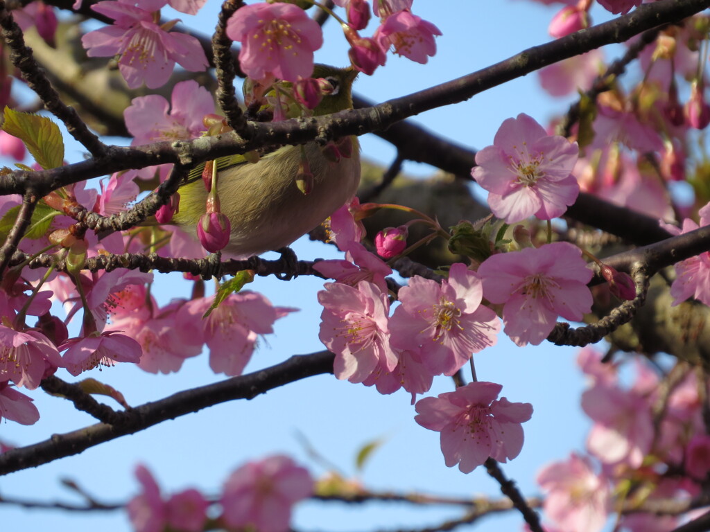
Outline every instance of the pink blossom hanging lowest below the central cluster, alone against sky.
<svg viewBox="0 0 710 532">
<path fill-rule="evenodd" d="M 417 402 L 415 421 L 441 433 L 448 467 L 470 473 L 488 458 L 506 462 L 523 448 L 523 426 L 532 416 L 529 403 L 498 399 L 503 387 L 493 382 L 471 382 L 455 392 L 425 397 Z"/>
</svg>

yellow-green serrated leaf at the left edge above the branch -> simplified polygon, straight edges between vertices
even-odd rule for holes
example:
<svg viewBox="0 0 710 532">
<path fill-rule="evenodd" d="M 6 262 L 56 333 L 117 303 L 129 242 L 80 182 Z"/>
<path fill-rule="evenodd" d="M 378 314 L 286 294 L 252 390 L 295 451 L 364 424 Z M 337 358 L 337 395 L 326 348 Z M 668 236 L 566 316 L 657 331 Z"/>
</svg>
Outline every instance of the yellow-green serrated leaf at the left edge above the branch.
<svg viewBox="0 0 710 532">
<path fill-rule="evenodd" d="M 64 140 L 59 126 L 45 116 L 22 113 L 5 106 L 3 131 L 22 140 L 45 170 L 64 163 Z"/>
</svg>

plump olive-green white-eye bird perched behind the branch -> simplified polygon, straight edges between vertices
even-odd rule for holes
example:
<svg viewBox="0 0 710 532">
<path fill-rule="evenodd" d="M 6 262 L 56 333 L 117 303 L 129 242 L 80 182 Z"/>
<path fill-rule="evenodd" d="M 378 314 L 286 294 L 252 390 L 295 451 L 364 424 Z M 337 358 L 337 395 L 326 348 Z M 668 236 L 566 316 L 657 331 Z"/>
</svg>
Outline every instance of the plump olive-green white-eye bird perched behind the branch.
<svg viewBox="0 0 710 532">
<path fill-rule="evenodd" d="M 332 92 L 322 97 L 314 115 L 352 109 L 351 86 L 356 75 L 352 68 L 315 65 L 312 77 L 326 79 Z M 217 160 L 217 194 L 221 211 L 231 223 L 231 236 L 224 251 L 246 258 L 278 250 L 317 227 L 349 201 L 360 182 L 359 143 L 354 135 L 349 140 L 351 153 L 344 150 L 344 155 L 349 156 L 339 157 L 337 162 L 324 155 L 322 146 L 315 142 L 283 146 L 256 163 L 246 162 L 243 155 Z M 312 182 L 306 187 L 310 189 L 308 194 L 301 192 L 297 184 L 304 153 L 312 174 Z M 205 212 L 207 190 L 202 179 L 193 179 L 178 192 L 180 206 L 173 223 L 196 235 L 197 221 Z"/>
</svg>

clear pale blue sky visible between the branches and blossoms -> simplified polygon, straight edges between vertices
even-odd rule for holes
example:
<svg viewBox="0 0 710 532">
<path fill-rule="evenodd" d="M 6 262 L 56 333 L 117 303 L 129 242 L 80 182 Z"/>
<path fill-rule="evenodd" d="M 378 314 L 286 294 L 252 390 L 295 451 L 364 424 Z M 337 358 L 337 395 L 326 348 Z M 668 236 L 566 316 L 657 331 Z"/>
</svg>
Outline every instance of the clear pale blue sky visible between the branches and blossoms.
<svg viewBox="0 0 710 532">
<path fill-rule="evenodd" d="M 197 24 L 213 28 L 217 9 L 219 2 L 209 0 Z M 437 55 L 428 65 L 390 56 L 388 65 L 372 77 L 359 78 L 356 92 L 384 101 L 469 74 L 524 48 L 545 43 L 550 40 L 546 28 L 555 8 L 524 0 L 417 0 L 413 11 L 442 31 L 437 39 Z M 603 13 L 595 10 L 593 16 L 599 22 Z M 180 14 L 180 18 L 188 25 L 192 23 L 190 16 Z M 316 60 L 345 65 L 347 45 L 337 24 L 329 23 L 326 29 L 326 45 L 317 52 Z M 535 74 L 530 74 L 462 104 L 424 113 L 414 121 L 461 145 L 482 148 L 492 143 L 498 126 L 510 116 L 525 112 L 545 123 L 566 109 L 567 101 L 546 96 L 536 81 Z M 394 157 L 391 146 L 373 135 L 365 135 L 361 143 L 368 159 L 387 165 Z M 70 144 L 67 157 L 80 160 L 81 152 L 80 147 Z M 425 165 L 405 165 L 405 172 L 410 174 L 427 175 L 432 171 Z M 307 241 L 297 243 L 295 251 L 304 259 L 337 257 L 332 248 Z M 156 279 L 158 297 L 163 302 L 170 297 L 188 297 L 190 287 L 179 275 L 158 275 Z M 275 335 L 260 342 L 247 372 L 293 354 L 322 349 L 317 338 L 320 309 L 316 301 L 321 287 L 322 282 L 309 277 L 293 282 L 257 279 L 251 284 L 249 289 L 263 292 L 274 304 L 299 306 L 302 310 L 277 322 Z M 503 466 L 506 475 L 518 481 L 525 494 L 536 494 L 535 474 L 542 465 L 567 458 L 571 450 L 584 447 L 588 423 L 579 407 L 584 383 L 574 365 L 575 356 L 575 350 L 550 344 L 517 348 L 502 335 L 498 345 L 476 355 L 479 379 L 503 384 L 502 394 L 510 401 L 534 406 L 532 420 L 524 425 L 523 452 Z M 187 360 L 182 371 L 174 375 L 148 375 L 131 365 L 122 365 L 103 372 L 94 370 L 91 376 L 119 389 L 132 405 L 222 379 L 209 371 L 206 355 Z M 430 394 L 451 389 L 449 379 L 437 377 Z M 4 422 L 0 425 L 1 439 L 26 445 L 94 422 L 77 413 L 67 401 L 40 392 L 31 392 L 31 396 L 42 414 L 40 421 L 31 427 Z M 464 475 L 446 467 L 439 450 L 439 434 L 418 426 L 413 421 L 414 414 L 408 394 L 382 396 L 372 388 L 320 376 L 275 389 L 253 401 L 215 406 L 99 445 L 82 455 L 8 475 L 0 478 L 0 493 L 43 501 L 79 501 L 60 486 L 60 479 L 70 478 L 102 501 L 126 500 L 138 489 L 133 467 L 143 462 L 151 467 L 167 492 L 195 486 L 207 494 L 216 494 L 229 472 L 245 460 L 277 452 L 293 455 L 314 475 L 320 475 L 324 470 L 308 458 L 299 443 L 297 434 L 301 433 L 324 457 L 350 475 L 354 474 L 359 448 L 371 440 L 383 439 L 383 445 L 360 475 L 368 489 L 498 497 L 497 484 L 484 470 L 479 468 Z M 308 503 L 297 511 L 295 527 L 334 532 L 394 530 L 431 526 L 458 515 L 455 508 L 423 511 L 403 504 L 346 507 Z M 8 529 L 21 526 L 25 531 L 130 530 L 123 512 L 77 515 L 0 506 L 0 521 Z M 479 531 L 521 528 L 521 519 L 515 514 L 503 520 L 486 519 L 476 526 Z"/>
</svg>

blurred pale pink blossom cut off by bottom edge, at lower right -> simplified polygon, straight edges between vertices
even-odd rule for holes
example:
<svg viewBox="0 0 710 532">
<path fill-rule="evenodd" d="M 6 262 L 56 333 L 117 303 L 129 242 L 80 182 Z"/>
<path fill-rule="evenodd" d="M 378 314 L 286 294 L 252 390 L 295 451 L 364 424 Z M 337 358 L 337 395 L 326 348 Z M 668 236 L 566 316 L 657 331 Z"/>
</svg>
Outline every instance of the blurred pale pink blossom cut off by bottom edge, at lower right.
<svg viewBox="0 0 710 532">
<path fill-rule="evenodd" d="M 559 528 L 574 532 L 597 532 L 606 523 L 609 486 L 591 470 L 589 460 L 573 454 L 567 462 L 555 462 L 537 475 L 547 493 L 545 515 Z"/>
</svg>

